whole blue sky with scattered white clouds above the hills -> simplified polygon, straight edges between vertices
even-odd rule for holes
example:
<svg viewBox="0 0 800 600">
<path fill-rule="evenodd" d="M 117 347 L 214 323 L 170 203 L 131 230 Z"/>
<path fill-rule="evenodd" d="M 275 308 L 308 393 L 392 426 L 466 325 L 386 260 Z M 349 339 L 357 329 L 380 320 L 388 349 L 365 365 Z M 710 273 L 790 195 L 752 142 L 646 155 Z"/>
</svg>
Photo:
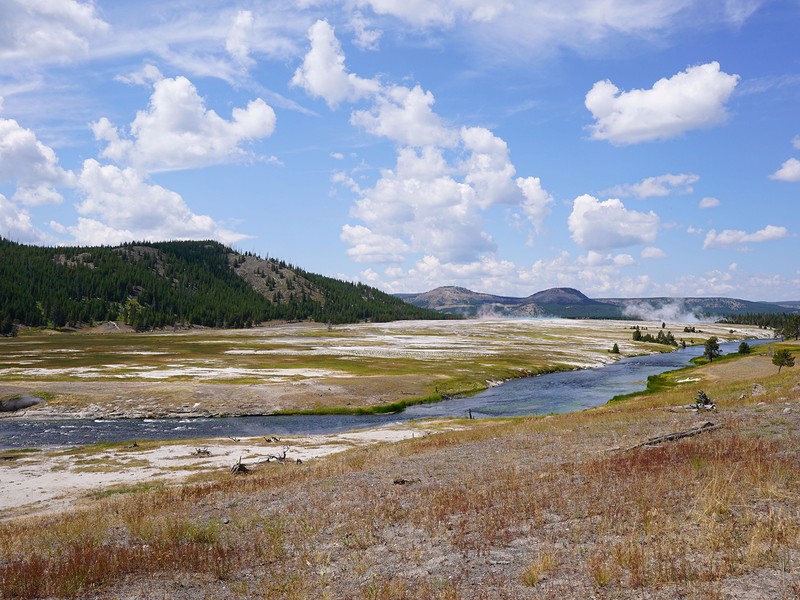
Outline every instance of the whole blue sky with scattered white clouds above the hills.
<svg viewBox="0 0 800 600">
<path fill-rule="evenodd" d="M 4 0 L 0 235 L 800 300 L 796 0 Z"/>
</svg>

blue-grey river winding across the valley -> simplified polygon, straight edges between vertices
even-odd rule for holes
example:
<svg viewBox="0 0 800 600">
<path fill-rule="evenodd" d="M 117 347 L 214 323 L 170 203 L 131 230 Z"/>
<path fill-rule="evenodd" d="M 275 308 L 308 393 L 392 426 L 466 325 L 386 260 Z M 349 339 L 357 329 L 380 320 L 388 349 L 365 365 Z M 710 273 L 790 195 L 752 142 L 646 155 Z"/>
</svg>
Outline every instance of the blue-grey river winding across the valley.
<svg viewBox="0 0 800 600">
<path fill-rule="evenodd" d="M 771 340 L 748 341 L 751 346 Z M 736 352 L 738 342 L 720 344 Z M 339 433 L 412 419 L 510 417 L 565 413 L 605 404 L 619 394 L 644 390 L 647 378 L 684 367 L 703 353 L 689 346 L 664 354 L 624 358 L 605 367 L 514 379 L 469 398 L 412 406 L 390 415 L 294 415 L 216 419 L 28 420 L 0 419 L 0 448 L 37 448 L 142 439 L 251 437 Z M 686 388 L 691 402 L 694 387 Z"/>
</svg>

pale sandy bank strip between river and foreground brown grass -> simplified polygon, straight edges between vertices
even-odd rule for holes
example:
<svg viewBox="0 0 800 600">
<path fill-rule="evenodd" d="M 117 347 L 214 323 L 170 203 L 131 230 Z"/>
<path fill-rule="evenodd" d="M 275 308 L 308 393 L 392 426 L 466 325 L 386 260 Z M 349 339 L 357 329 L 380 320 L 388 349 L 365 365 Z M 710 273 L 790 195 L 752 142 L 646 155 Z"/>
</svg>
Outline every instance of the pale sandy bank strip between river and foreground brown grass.
<svg viewBox="0 0 800 600">
<path fill-rule="evenodd" d="M 449 427 L 448 428 L 452 428 Z M 285 438 L 208 438 L 190 442 L 146 442 L 141 446 L 92 446 L 9 454 L 0 460 L 0 520 L 52 513 L 78 505 L 97 492 L 140 483 L 176 484 L 200 471 L 227 472 L 240 459 L 248 468 L 285 450 L 285 468 L 350 448 L 393 443 L 441 431 L 431 423 L 392 425 L 336 434 Z M 155 445 L 154 445 L 155 444 Z M 198 454 L 197 450 L 208 450 Z M 233 477 L 233 475 L 231 475 Z"/>
</svg>

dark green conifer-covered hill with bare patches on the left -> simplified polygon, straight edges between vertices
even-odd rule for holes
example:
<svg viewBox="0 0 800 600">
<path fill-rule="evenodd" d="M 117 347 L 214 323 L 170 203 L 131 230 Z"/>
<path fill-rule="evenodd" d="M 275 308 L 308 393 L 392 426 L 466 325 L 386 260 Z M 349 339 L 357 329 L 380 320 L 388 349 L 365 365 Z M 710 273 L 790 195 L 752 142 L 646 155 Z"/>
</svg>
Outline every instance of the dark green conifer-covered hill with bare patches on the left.
<svg viewBox="0 0 800 600">
<path fill-rule="evenodd" d="M 119 321 L 137 330 L 269 320 L 435 319 L 375 288 L 213 241 L 46 248 L 0 238 L 0 333 Z"/>
</svg>

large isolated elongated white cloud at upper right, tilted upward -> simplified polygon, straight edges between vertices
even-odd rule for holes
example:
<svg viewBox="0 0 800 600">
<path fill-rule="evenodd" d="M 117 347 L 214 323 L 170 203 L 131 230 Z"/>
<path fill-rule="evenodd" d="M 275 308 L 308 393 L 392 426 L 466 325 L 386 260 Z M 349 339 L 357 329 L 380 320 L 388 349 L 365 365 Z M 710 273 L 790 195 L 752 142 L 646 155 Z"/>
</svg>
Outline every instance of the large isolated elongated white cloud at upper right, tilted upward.
<svg viewBox="0 0 800 600">
<path fill-rule="evenodd" d="M 718 125 L 727 119 L 725 103 L 738 81 L 717 62 L 689 67 L 650 89 L 624 92 L 608 80 L 598 81 L 586 94 L 586 108 L 595 118 L 591 137 L 637 144 Z"/>
</svg>

